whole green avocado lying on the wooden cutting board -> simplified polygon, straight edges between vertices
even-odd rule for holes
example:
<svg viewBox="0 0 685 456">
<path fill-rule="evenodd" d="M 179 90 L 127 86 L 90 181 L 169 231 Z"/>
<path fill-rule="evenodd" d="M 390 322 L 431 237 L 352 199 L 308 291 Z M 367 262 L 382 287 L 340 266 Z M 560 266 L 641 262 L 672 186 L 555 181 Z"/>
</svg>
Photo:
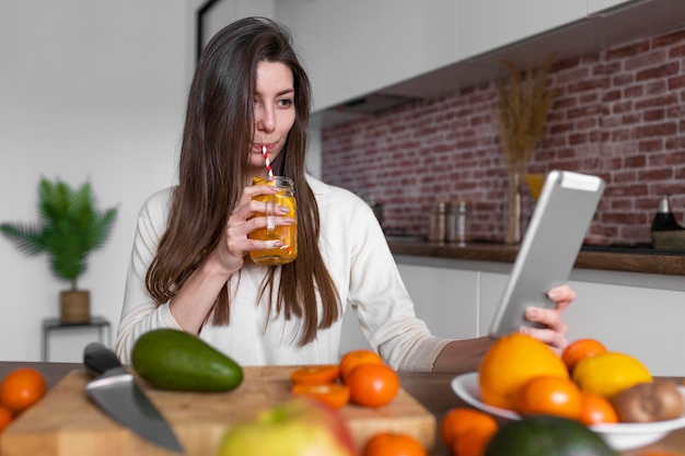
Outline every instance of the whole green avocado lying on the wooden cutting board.
<svg viewBox="0 0 685 456">
<path fill-rule="evenodd" d="M 243 369 L 204 340 L 176 329 L 153 329 L 133 346 L 133 369 L 160 389 L 230 391 L 243 382 Z"/>
</svg>

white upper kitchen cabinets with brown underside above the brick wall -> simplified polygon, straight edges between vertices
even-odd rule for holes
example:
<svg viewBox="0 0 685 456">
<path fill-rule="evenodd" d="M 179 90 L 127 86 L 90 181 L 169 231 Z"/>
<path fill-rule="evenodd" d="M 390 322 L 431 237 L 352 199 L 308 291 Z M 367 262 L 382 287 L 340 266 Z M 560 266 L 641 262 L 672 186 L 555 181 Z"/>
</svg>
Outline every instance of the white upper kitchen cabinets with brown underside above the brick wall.
<svg viewBox="0 0 685 456">
<path fill-rule="evenodd" d="M 344 121 L 352 114 L 337 108 L 368 95 L 434 96 L 499 79 L 502 59 L 537 66 L 553 51 L 576 56 L 672 30 L 683 2 L 222 0 L 205 20 L 206 34 L 251 14 L 290 27 L 312 80 L 313 114 Z"/>
</svg>

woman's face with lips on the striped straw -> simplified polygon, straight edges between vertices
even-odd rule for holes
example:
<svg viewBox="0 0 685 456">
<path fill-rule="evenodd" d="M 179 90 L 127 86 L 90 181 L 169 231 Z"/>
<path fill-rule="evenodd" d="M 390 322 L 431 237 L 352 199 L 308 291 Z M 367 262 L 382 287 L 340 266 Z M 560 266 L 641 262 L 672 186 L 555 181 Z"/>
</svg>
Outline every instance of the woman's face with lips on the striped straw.
<svg viewBox="0 0 685 456">
<path fill-rule="evenodd" d="M 283 148 L 288 132 L 295 121 L 294 96 L 290 68 L 279 62 L 257 63 L 255 128 L 249 152 L 253 177 L 267 175 L 263 148 L 266 148 L 271 162 Z"/>
</svg>

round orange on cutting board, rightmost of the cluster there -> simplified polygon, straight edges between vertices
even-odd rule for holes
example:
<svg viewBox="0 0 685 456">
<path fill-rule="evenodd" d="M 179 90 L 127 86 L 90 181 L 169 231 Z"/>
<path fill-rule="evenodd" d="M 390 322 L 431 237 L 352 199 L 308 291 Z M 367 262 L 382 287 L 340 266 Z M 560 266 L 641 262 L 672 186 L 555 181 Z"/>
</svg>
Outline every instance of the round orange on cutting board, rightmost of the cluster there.
<svg viewBox="0 0 685 456">
<path fill-rule="evenodd" d="M 349 374 L 350 400 L 365 407 L 388 404 L 399 391 L 397 373 L 385 364 L 362 364 Z"/>
</svg>

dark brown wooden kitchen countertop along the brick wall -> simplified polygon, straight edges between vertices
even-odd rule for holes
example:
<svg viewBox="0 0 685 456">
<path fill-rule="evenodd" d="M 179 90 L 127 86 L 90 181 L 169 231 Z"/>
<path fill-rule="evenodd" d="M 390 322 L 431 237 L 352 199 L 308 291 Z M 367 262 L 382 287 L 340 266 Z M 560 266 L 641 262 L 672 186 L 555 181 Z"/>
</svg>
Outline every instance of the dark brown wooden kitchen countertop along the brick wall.
<svg viewBox="0 0 685 456">
<path fill-rule="evenodd" d="M 518 246 L 495 243 L 467 243 L 465 245 L 439 244 L 419 237 L 388 236 L 394 255 L 429 258 L 452 258 L 473 261 L 513 262 Z M 655 250 L 648 247 L 584 246 L 576 260 L 576 268 L 623 272 L 642 272 L 685 276 L 685 252 Z"/>
</svg>

